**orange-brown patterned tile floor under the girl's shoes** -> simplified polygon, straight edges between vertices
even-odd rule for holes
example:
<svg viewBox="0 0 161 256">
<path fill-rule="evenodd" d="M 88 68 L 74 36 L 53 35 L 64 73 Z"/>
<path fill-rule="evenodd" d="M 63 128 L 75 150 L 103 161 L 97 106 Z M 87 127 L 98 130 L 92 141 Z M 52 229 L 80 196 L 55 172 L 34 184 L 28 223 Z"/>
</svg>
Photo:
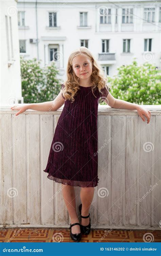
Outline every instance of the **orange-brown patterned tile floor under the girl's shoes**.
<svg viewBox="0 0 161 256">
<path fill-rule="evenodd" d="M 144 236 L 145 235 L 145 236 Z M 161 230 L 95 230 L 82 235 L 81 242 L 161 242 Z M 150 240 L 148 240 L 150 239 Z M 0 242 L 74 242 L 67 228 L 0 229 Z"/>
</svg>

